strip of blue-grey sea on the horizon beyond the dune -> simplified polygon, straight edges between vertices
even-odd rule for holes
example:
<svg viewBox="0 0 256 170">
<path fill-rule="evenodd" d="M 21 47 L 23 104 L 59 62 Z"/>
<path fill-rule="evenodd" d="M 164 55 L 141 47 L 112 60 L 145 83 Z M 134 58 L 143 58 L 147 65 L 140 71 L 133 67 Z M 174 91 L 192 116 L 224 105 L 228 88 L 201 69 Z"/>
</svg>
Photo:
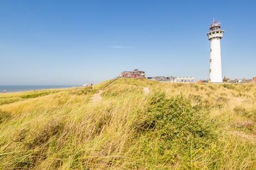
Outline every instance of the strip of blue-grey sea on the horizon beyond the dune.
<svg viewBox="0 0 256 170">
<path fill-rule="evenodd" d="M 30 90 L 44 90 L 44 89 L 62 89 L 71 87 L 82 86 L 70 86 L 70 85 L 31 85 L 31 86 L 4 86 L 0 85 L 0 92 L 18 92 L 18 91 L 30 91 Z"/>
</svg>

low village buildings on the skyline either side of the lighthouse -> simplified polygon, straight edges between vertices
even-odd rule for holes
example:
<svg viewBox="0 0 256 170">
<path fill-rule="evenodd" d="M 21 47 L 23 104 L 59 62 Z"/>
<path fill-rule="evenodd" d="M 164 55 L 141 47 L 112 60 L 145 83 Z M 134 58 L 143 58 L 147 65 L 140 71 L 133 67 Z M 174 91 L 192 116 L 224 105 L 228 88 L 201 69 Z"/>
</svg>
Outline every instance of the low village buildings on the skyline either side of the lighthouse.
<svg viewBox="0 0 256 170">
<path fill-rule="evenodd" d="M 123 71 L 118 78 L 146 78 L 150 80 L 163 81 L 163 82 L 184 82 L 184 83 L 194 83 L 196 82 L 194 77 L 188 76 L 156 76 L 156 77 L 146 77 L 145 71 L 140 71 L 135 69 L 133 71 Z M 198 80 L 197 82 L 209 82 L 209 80 Z M 252 79 L 235 79 L 231 80 L 224 77 L 223 82 L 225 83 L 250 83 L 256 82 L 256 77 Z"/>
</svg>

